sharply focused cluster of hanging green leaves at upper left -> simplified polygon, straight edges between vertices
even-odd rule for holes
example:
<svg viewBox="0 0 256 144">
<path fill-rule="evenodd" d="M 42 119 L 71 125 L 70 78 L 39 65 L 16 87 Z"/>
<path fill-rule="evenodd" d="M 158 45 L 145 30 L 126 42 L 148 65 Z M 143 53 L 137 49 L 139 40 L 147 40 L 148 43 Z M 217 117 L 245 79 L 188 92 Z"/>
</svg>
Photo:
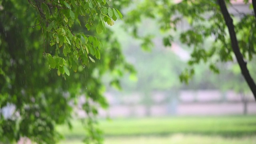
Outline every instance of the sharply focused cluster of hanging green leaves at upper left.
<svg viewBox="0 0 256 144">
<path fill-rule="evenodd" d="M 40 26 L 44 34 L 44 41 L 50 38 L 50 46 L 56 47 L 55 55 L 44 48 L 49 68 L 58 69 L 58 75 L 67 74 L 72 68 L 77 71 L 79 65 L 89 66 L 100 59 L 102 44 L 99 38 L 93 35 L 72 32 L 72 26 L 77 23 L 81 26 L 84 20 L 88 31 L 96 27 L 100 34 L 105 29 L 105 23 L 114 25 L 114 21 L 122 19 L 121 12 L 111 8 L 109 0 L 29 0 L 30 5 L 38 10 Z M 48 34 L 47 34 L 48 33 Z M 45 36 L 48 37 L 45 37 Z M 64 57 L 69 57 L 66 61 Z M 70 58 L 71 57 L 71 58 Z"/>
</svg>

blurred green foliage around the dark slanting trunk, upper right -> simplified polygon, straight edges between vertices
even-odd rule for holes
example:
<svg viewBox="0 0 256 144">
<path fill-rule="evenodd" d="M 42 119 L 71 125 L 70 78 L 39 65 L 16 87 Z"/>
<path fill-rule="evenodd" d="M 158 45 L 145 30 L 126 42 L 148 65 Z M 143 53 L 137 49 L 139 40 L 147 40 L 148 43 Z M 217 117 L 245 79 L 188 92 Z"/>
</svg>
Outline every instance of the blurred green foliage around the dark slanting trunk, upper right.
<svg viewBox="0 0 256 144">
<path fill-rule="evenodd" d="M 250 6 L 251 10 L 256 7 L 255 4 L 248 3 L 248 0 L 244 0 L 243 4 L 248 8 Z M 142 47 L 151 45 L 148 35 L 141 35 L 138 31 L 143 19 L 158 21 L 159 30 L 167 35 L 163 38 L 165 46 L 171 45 L 173 35 L 186 20 L 189 27 L 181 32 L 179 39 L 192 48 L 192 53 L 188 61 L 189 67 L 181 73 L 180 80 L 188 83 L 194 75 L 194 65 L 200 62 L 204 62 L 210 70 L 218 73 L 218 62 L 237 61 L 256 97 L 256 85 L 246 67 L 246 61 L 250 62 L 256 54 L 255 14 L 253 10 L 251 13 L 244 13 L 235 8 L 238 16 L 231 14 L 230 17 L 228 11 L 223 11 L 226 6 L 233 7 L 230 0 L 142 0 L 124 16 L 124 20 L 128 32 L 142 41 Z M 207 38 L 214 39 L 212 45 L 204 45 Z"/>
</svg>

